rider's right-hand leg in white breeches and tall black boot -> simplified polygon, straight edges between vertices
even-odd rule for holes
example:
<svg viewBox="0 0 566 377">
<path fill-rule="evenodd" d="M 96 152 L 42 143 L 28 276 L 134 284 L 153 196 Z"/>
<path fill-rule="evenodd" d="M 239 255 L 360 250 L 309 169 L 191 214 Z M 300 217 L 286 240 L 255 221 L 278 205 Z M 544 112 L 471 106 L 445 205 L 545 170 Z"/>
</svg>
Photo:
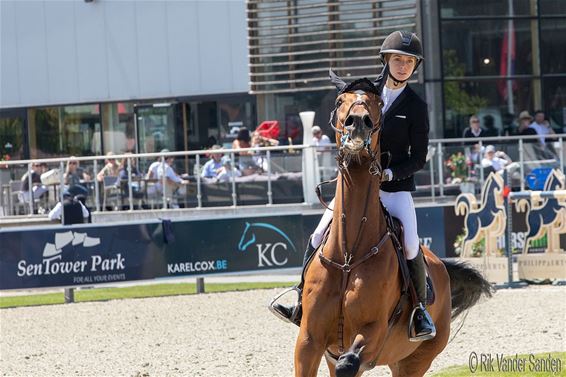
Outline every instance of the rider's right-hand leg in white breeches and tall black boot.
<svg viewBox="0 0 566 377">
<path fill-rule="evenodd" d="M 391 215 L 397 217 L 403 224 L 403 243 L 405 246 L 405 257 L 411 274 L 411 280 L 415 286 L 419 305 L 414 309 L 412 322 L 414 323 L 415 335 L 411 341 L 432 339 L 436 335 L 436 328 L 432 318 L 427 313 L 426 305 L 426 270 L 424 256 L 420 249 L 419 236 L 417 233 L 417 215 L 411 193 L 381 192 L 381 201 Z"/>
</svg>

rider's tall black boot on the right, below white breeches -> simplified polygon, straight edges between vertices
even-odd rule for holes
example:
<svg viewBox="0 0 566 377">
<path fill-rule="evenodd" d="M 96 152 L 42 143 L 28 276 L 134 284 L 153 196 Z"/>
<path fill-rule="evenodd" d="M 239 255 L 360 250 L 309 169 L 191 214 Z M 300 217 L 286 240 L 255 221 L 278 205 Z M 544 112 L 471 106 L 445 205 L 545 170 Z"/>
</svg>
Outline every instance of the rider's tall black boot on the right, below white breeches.
<svg viewBox="0 0 566 377">
<path fill-rule="evenodd" d="M 411 280 L 417 292 L 418 305 L 413 309 L 409 325 L 409 340 L 420 342 L 435 337 L 436 328 L 432 318 L 426 311 L 426 270 L 422 250 L 419 250 L 415 259 L 407 260 Z M 412 324 L 412 326 L 411 326 Z M 414 328 L 414 332 L 413 332 Z"/>
</svg>

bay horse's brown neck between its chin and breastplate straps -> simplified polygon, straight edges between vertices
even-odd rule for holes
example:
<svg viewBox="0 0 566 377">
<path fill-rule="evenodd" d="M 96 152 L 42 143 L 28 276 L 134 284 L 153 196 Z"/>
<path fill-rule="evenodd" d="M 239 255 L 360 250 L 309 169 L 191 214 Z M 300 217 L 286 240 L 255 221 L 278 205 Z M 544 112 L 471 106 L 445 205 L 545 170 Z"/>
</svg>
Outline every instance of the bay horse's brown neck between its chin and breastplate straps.
<svg viewBox="0 0 566 377">
<path fill-rule="evenodd" d="M 334 199 L 334 213 L 331 237 L 342 245 L 343 237 L 346 237 L 347 251 L 351 252 L 353 247 L 371 247 L 381 238 L 386 231 L 381 205 L 379 204 L 379 179 L 368 173 L 367 166 L 349 169 L 346 173 L 338 176 L 336 195 Z M 371 184 L 371 188 L 370 188 Z M 368 192 L 369 188 L 369 192 Z M 344 229 L 342 215 L 346 218 Z M 367 218 L 362 225 L 362 218 Z M 362 227 L 360 241 L 354 245 L 358 238 L 360 227 Z M 341 250 L 339 254 L 342 254 Z"/>
</svg>

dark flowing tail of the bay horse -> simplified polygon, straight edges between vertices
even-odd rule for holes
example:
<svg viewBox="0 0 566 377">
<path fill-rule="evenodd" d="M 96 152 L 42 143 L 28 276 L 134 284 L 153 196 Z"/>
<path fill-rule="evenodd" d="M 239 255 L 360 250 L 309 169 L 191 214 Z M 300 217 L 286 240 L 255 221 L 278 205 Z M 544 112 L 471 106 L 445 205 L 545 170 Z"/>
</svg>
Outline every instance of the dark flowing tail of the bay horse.
<svg viewBox="0 0 566 377">
<path fill-rule="evenodd" d="M 452 319 L 474 306 L 482 295 L 491 297 L 491 285 L 474 267 L 460 261 L 442 262 L 450 275 Z"/>
</svg>

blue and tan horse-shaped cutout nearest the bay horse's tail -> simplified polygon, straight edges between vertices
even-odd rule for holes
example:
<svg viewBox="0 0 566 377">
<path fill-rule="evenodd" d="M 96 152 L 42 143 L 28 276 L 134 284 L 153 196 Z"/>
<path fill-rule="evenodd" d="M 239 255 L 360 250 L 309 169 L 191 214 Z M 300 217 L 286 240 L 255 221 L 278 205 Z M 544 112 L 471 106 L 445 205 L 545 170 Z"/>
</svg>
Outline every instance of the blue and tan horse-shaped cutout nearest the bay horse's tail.
<svg viewBox="0 0 566 377">
<path fill-rule="evenodd" d="M 507 216 L 503 204 L 503 178 L 491 173 L 483 185 L 481 203 L 472 194 L 460 194 L 456 198 L 456 215 L 466 216 L 465 237 L 461 257 L 469 257 L 472 245 L 485 237 L 486 255 L 494 255 L 497 237 L 505 232 Z"/>
</svg>

